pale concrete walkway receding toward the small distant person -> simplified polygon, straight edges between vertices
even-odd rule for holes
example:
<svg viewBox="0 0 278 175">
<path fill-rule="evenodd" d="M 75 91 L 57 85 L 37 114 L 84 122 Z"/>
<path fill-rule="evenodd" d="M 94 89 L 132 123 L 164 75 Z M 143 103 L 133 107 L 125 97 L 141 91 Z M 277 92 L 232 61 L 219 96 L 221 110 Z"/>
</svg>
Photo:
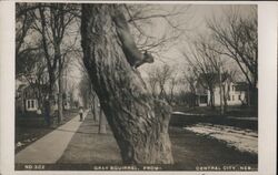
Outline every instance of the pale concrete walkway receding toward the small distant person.
<svg viewBox="0 0 278 175">
<path fill-rule="evenodd" d="M 88 111 L 85 112 L 85 117 Z M 64 150 L 67 148 L 71 137 L 79 128 L 82 122 L 79 121 L 79 115 L 75 116 L 68 123 L 56 128 L 40 140 L 36 141 L 24 150 L 16 154 L 16 163 L 36 163 L 36 164 L 53 164 L 56 163 Z"/>
</svg>

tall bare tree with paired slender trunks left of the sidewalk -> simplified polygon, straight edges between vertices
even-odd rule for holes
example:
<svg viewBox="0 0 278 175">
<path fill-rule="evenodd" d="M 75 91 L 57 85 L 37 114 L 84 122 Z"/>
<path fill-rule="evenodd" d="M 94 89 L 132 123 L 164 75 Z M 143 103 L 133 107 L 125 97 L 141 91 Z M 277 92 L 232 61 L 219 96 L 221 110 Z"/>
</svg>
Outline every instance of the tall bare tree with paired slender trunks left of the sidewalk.
<svg viewBox="0 0 278 175">
<path fill-rule="evenodd" d="M 75 11 L 73 4 L 66 3 L 34 3 L 33 8 L 29 9 L 32 18 L 36 19 L 32 29 L 41 35 L 41 45 L 47 62 L 49 74 L 48 96 L 49 102 L 46 103 L 47 119 L 50 117 L 51 105 L 54 101 L 54 83 L 58 79 L 58 122 L 62 120 L 62 70 L 66 65 L 67 54 L 70 53 L 72 45 L 70 42 L 69 27 L 76 18 L 70 11 Z M 67 41 L 64 41 L 67 38 Z M 48 114 L 49 113 L 49 114 Z M 48 122 L 49 123 L 49 122 Z"/>
</svg>

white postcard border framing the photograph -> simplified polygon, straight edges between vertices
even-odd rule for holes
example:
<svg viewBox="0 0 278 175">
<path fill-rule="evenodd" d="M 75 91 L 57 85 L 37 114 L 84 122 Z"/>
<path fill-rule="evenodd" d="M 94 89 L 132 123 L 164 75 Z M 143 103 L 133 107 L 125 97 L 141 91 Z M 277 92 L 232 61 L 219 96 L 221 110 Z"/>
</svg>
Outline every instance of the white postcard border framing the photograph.
<svg viewBox="0 0 278 175">
<path fill-rule="evenodd" d="M 26 1 L 34 2 L 34 1 Z M 52 1 L 64 2 L 64 1 Z M 69 1 L 78 2 L 79 1 Z M 83 1 L 88 3 L 88 1 Z M 96 1 L 95 1 L 96 2 Z M 102 1 L 98 1 L 102 2 Z M 131 3 L 122 1 L 125 3 Z M 140 3 L 133 1 L 135 3 Z M 0 116 L 1 116 L 1 173 L 2 174 L 149 174 L 150 172 L 69 172 L 46 171 L 28 172 L 14 171 L 14 1 L 0 2 Z M 160 3 L 150 1 L 149 3 Z M 153 174 L 247 174 L 271 175 L 276 169 L 277 155 L 277 2 L 255 1 L 196 1 L 196 2 L 165 2 L 161 3 L 195 3 L 195 4 L 258 4 L 259 33 L 259 161 L 258 172 L 151 172 Z"/>
</svg>

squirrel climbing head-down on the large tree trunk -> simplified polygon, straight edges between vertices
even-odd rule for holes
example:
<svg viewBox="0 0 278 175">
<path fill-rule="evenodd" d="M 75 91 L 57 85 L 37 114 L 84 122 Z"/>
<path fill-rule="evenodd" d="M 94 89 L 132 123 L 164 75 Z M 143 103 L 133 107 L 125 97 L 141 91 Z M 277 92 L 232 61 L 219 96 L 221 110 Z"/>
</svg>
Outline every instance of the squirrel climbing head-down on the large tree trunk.
<svg viewBox="0 0 278 175">
<path fill-rule="evenodd" d="M 129 64 L 133 68 L 138 68 L 146 62 L 152 63 L 155 61 L 153 56 L 148 53 L 148 51 L 141 53 L 137 48 L 123 13 L 116 11 L 112 20 L 116 24 L 116 31 L 121 41 L 122 51 Z"/>
</svg>

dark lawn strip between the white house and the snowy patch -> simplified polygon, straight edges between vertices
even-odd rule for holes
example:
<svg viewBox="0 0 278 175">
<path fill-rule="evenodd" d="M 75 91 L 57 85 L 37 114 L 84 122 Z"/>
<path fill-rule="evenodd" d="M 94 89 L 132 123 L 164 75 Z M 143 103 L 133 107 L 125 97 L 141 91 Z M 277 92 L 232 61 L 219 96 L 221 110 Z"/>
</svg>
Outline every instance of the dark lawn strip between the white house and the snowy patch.
<svg viewBox="0 0 278 175">
<path fill-rule="evenodd" d="M 258 120 L 246 120 L 258 117 L 257 110 L 252 107 L 229 107 L 225 115 L 219 114 L 219 109 L 211 110 L 210 107 L 175 106 L 173 112 L 183 112 L 190 115 L 172 114 L 171 126 L 185 127 L 198 123 L 210 123 L 258 131 Z"/>
</svg>

